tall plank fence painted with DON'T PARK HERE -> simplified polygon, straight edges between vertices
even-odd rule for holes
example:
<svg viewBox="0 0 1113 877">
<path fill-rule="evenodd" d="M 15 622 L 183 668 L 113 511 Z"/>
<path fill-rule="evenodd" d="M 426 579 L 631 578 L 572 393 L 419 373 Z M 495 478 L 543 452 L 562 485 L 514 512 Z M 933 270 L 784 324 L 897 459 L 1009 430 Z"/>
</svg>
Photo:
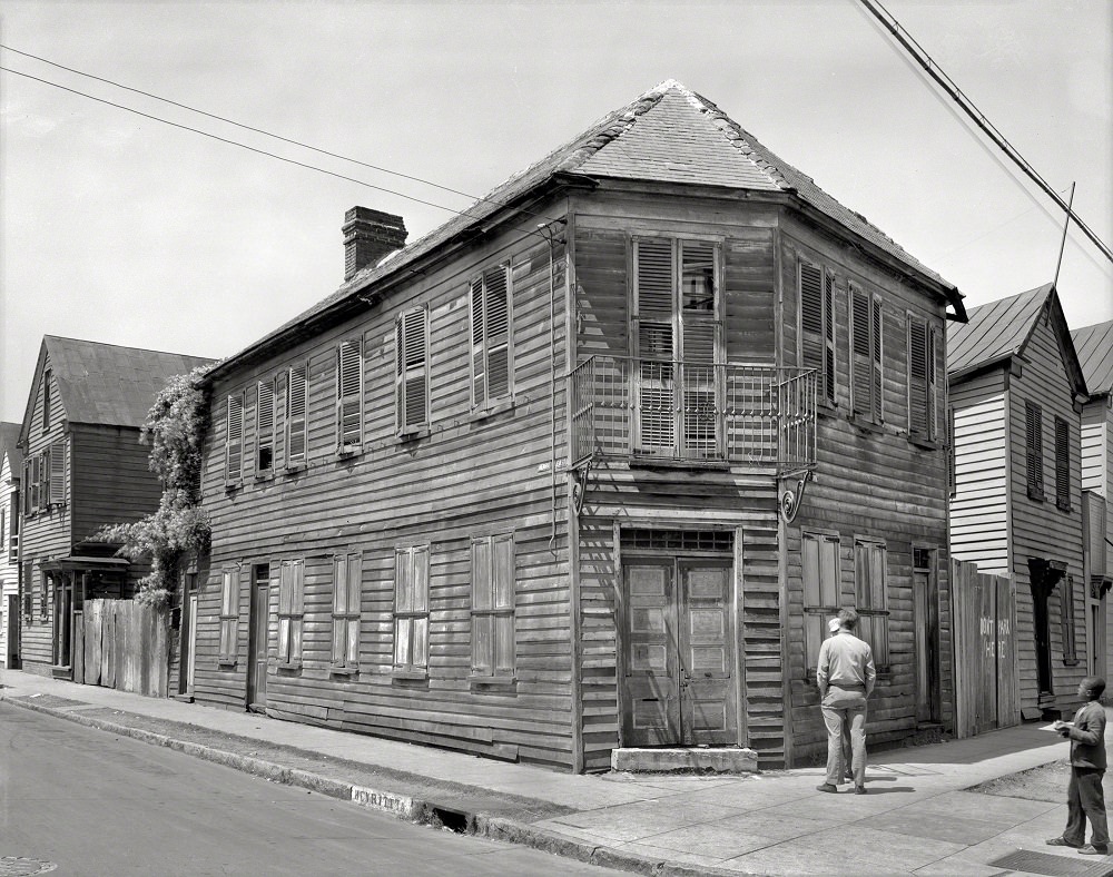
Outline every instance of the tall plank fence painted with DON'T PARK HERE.
<svg viewBox="0 0 1113 877">
<path fill-rule="evenodd" d="M 951 561 L 955 649 L 955 736 L 974 737 L 1020 721 L 1016 597 L 1011 579 Z"/>
</svg>

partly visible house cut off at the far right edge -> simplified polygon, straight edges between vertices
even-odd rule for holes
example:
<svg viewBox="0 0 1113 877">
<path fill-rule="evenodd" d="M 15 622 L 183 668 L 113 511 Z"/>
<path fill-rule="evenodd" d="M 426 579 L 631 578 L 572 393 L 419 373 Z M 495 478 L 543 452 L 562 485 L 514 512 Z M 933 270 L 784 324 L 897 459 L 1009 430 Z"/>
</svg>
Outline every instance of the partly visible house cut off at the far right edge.
<svg viewBox="0 0 1113 877">
<path fill-rule="evenodd" d="M 1082 407 L 1082 497 L 1085 552 L 1086 630 L 1094 648 L 1090 670 L 1109 679 L 1113 635 L 1109 592 L 1113 587 L 1113 321 L 1071 333 L 1086 377 L 1090 401 Z"/>
</svg>

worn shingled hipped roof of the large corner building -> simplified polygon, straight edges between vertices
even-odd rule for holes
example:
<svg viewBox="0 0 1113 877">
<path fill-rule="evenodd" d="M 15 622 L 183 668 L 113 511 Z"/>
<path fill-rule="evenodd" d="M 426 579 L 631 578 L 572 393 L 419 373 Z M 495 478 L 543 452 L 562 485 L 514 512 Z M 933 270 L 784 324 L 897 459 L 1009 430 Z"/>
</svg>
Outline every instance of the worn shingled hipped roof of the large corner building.
<svg viewBox="0 0 1113 877">
<path fill-rule="evenodd" d="M 835 200 L 810 177 L 766 149 L 715 104 L 670 79 L 600 119 L 392 258 L 364 268 L 332 295 L 226 359 L 214 374 L 230 369 L 253 351 L 273 342 L 280 344 L 282 336 L 342 306 L 363 289 L 402 274 L 417 258 L 561 174 L 795 193 L 883 253 L 948 288 L 956 312 L 962 314 L 962 296 L 952 284 L 913 258 L 860 214 Z"/>
</svg>

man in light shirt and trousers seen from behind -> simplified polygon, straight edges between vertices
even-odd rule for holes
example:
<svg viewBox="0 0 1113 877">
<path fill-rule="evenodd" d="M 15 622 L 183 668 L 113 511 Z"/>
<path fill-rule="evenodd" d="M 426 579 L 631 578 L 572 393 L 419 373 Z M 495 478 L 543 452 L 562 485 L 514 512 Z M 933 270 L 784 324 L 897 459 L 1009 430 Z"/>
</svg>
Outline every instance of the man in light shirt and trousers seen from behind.
<svg viewBox="0 0 1113 877">
<path fill-rule="evenodd" d="M 839 631 L 819 647 L 819 683 L 824 722 L 827 726 L 827 779 L 819 791 L 836 792 L 843 776 L 843 728 L 850 726 L 850 749 L 854 767 L 854 790 L 866 794 L 866 699 L 874 691 L 877 671 L 869 643 L 854 635 L 858 613 L 843 609 L 838 613 Z"/>
</svg>

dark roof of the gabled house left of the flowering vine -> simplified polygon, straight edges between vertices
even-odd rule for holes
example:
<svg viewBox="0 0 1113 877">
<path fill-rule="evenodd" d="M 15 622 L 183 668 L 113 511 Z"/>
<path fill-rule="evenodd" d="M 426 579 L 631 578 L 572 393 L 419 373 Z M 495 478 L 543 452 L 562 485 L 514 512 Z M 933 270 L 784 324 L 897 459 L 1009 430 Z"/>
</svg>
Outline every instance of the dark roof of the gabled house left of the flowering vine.
<svg viewBox="0 0 1113 877">
<path fill-rule="evenodd" d="M 213 359 L 45 335 L 42 344 L 71 423 L 141 426 L 175 375 Z"/>
</svg>

